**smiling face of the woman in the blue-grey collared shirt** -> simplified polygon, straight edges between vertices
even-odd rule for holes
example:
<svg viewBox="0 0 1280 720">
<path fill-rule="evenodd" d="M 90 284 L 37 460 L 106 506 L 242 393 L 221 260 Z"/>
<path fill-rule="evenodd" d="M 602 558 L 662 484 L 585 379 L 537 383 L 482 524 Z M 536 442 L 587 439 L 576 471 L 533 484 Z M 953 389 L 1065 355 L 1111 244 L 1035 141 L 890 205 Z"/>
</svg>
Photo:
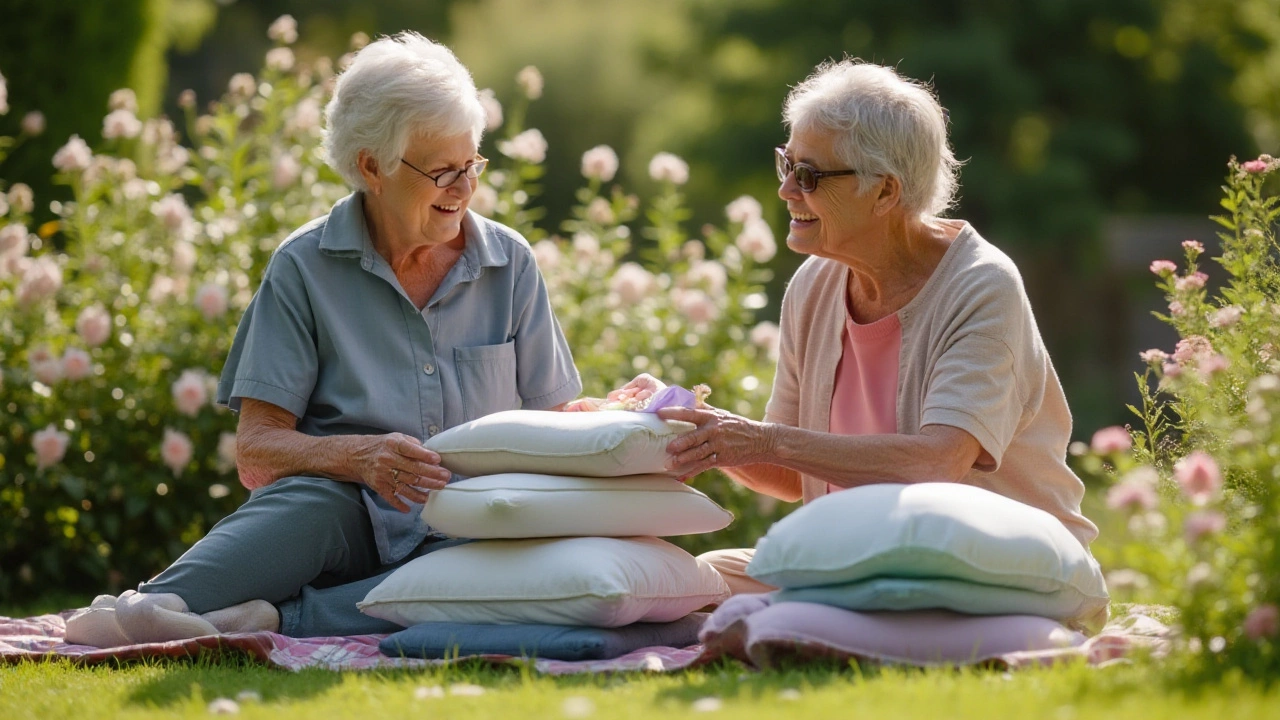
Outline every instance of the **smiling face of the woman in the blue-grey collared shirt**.
<svg viewBox="0 0 1280 720">
<path fill-rule="evenodd" d="M 439 176 L 457 170 L 476 158 L 471 133 L 443 140 L 413 136 L 404 160 L 422 173 Z M 401 163 L 394 174 L 381 177 L 378 204 L 387 210 L 388 231 L 407 245 L 442 245 L 462 234 L 462 218 L 471 202 L 477 178 L 458 177 L 447 187 Z"/>
</svg>

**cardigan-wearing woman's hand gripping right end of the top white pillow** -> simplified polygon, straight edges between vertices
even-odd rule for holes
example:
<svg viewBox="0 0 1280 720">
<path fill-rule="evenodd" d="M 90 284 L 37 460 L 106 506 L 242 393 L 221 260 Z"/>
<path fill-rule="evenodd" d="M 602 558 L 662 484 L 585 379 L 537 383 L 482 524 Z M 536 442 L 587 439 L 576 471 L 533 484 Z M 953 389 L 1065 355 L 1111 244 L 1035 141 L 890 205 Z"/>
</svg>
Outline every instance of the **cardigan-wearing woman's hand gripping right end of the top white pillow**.
<svg viewBox="0 0 1280 720">
<path fill-rule="evenodd" d="M 750 465 L 768 457 L 769 433 L 764 423 L 718 407 L 663 407 L 658 416 L 698 425 L 667 443 L 667 469 L 681 480 L 712 468 Z"/>
</svg>

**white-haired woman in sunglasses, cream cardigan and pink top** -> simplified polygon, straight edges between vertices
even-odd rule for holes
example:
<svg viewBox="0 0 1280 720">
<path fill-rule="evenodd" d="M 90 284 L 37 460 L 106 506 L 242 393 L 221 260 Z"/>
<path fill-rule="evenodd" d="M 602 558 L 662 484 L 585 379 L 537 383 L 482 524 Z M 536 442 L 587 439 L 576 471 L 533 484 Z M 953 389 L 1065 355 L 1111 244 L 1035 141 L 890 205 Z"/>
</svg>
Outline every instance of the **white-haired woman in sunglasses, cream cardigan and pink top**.
<svg viewBox="0 0 1280 720">
<path fill-rule="evenodd" d="M 810 258 L 782 300 L 764 421 L 669 409 L 682 477 L 722 468 L 809 502 L 872 483 L 956 482 L 1039 507 L 1088 547 L 1071 415 L 1018 268 L 969 223 L 943 219 L 959 163 L 929 88 L 892 68 L 820 65 L 792 90 L 774 151 L 787 246 Z M 641 375 L 612 397 L 653 392 Z M 704 556 L 735 592 L 750 550 Z"/>
</svg>

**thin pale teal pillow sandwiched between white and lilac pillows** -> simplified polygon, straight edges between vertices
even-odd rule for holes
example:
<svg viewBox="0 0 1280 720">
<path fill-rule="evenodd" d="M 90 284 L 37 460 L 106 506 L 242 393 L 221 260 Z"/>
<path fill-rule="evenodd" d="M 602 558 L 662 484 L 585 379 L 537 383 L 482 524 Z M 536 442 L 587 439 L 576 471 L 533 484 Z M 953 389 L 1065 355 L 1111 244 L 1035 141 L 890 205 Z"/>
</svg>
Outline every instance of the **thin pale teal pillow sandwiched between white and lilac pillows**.
<svg viewBox="0 0 1280 720">
<path fill-rule="evenodd" d="M 858 610 L 954 610 L 969 615 L 1037 615 L 1096 633 L 1106 614 L 1080 618 L 1089 598 L 1074 588 L 1034 592 L 941 578 L 872 578 L 773 593 L 774 602 L 815 602 Z"/>
</svg>

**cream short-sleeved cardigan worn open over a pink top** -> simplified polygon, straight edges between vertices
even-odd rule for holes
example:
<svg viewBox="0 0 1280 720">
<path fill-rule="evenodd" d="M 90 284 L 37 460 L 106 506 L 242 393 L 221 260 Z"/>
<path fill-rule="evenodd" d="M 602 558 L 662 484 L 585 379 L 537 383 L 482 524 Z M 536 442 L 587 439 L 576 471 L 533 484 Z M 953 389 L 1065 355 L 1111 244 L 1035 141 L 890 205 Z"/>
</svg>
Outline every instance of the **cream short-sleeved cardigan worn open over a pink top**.
<svg viewBox="0 0 1280 720">
<path fill-rule="evenodd" d="M 822 258 L 791 278 L 765 421 L 829 432 L 847 281 L 847 265 Z M 1080 514 L 1084 484 L 1066 465 L 1071 413 L 1012 260 L 965 224 L 897 315 L 897 432 L 933 424 L 968 432 L 995 464 L 961 482 L 1052 514 L 1088 547 L 1098 529 Z M 812 475 L 803 488 L 805 502 L 827 493 Z"/>
</svg>

